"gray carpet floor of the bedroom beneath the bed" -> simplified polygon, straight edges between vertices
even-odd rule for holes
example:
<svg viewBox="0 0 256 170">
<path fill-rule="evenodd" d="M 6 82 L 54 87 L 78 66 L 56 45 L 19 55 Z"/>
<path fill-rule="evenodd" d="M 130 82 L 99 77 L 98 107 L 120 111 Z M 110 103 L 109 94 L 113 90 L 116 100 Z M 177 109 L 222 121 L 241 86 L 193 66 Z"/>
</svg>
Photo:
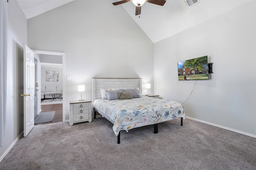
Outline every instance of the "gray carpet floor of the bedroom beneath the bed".
<svg viewBox="0 0 256 170">
<path fill-rule="evenodd" d="M 255 170 L 256 138 L 191 119 L 121 132 L 104 118 L 35 126 L 0 170 Z"/>
</svg>

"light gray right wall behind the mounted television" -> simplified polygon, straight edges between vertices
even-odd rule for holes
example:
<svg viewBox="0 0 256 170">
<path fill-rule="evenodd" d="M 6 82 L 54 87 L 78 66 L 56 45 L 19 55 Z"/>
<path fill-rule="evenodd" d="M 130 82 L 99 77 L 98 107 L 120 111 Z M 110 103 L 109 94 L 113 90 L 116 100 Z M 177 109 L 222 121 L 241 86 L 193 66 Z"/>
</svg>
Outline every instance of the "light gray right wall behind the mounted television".
<svg viewBox="0 0 256 170">
<path fill-rule="evenodd" d="M 154 44 L 154 91 L 183 103 L 195 81 L 178 81 L 177 62 L 208 55 L 210 80 L 199 80 L 186 116 L 256 135 L 256 2 Z"/>
</svg>

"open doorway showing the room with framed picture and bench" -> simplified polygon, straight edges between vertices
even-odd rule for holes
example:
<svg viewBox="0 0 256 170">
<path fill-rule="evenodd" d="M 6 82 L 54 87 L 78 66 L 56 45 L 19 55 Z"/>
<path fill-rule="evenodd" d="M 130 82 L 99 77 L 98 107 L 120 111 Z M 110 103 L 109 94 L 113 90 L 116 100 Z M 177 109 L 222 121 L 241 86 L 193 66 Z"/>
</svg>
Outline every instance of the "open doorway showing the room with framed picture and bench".
<svg viewBox="0 0 256 170">
<path fill-rule="evenodd" d="M 55 111 L 50 123 L 65 121 L 65 53 L 34 51 L 37 59 L 37 112 Z M 47 80 L 47 71 L 54 72 L 54 79 Z M 49 78 L 49 77 L 48 77 Z M 36 81 L 35 81 L 36 82 Z M 56 98 L 52 94 L 58 93 Z M 53 100 L 52 100 L 53 99 Z M 51 101 L 52 100 L 52 101 Z M 44 104 L 42 104 L 44 102 Z M 48 102 L 48 104 L 46 104 Z M 38 123 L 35 125 L 41 125 Z M 45 123 L 47 124 L 47 123 Z"/>
</svg>

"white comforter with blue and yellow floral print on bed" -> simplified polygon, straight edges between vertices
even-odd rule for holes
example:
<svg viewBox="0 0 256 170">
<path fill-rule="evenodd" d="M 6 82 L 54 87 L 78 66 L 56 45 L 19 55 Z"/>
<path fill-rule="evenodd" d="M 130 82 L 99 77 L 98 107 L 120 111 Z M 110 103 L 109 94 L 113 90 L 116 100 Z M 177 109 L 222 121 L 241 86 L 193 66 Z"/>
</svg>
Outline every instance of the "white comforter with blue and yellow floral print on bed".
<svg viewBox="0 0 256 170">
<path fill-rule="evenodd" d="M 180 103 L 150 97 L 130 100 L 96 99 L 92 107 L 108 115 L 113 121 L 116 136 L 121 130 L 152 125 L 163 121 L 184 117 Z"/>
</svg>

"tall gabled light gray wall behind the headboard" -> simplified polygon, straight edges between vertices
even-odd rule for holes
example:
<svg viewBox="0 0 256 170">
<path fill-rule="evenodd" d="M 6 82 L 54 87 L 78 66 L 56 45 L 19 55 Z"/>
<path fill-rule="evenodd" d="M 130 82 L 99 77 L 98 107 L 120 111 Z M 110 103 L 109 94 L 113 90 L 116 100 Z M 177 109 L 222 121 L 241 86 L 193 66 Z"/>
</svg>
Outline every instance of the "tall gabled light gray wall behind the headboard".
<svg viewBox="0 0 256 170">
<path fill-rule="evenodd" d="M 140 77 L 154 83 L 152 41 L 123 8 L 109 1 L 73 1 L 29 19 L 28 46 L 66 54 L 66 76 L 71 76 L 66 81 L 66 120 L 69 101 L 80 99 L 78 84 L 86 86 L 82 98 L 92 99 L 93 77 Z"/>
</svg>

